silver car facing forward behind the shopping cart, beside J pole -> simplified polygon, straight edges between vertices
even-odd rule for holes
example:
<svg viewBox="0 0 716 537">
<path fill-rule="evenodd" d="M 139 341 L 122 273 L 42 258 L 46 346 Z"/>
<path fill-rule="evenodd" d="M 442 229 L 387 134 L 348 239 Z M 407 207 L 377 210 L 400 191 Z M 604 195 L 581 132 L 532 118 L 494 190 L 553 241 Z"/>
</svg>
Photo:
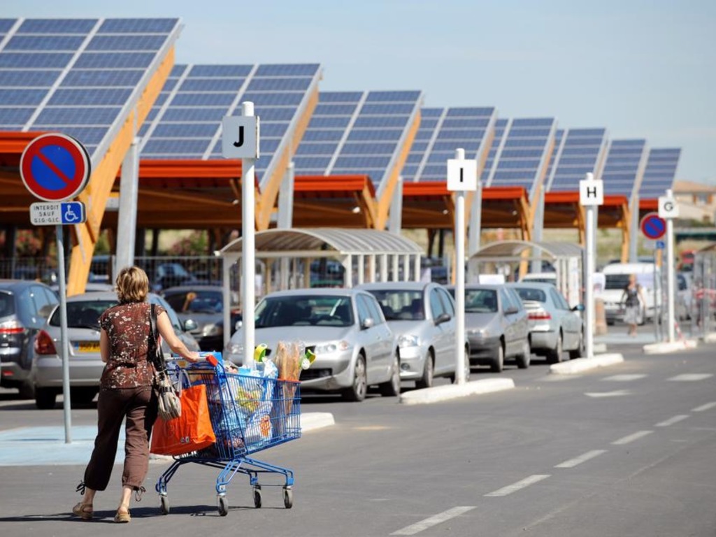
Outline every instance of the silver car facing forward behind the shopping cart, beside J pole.
<svg viewBox="0 0 716 537">
<path fill-rule="evenodd" d="M 301 390 L 338 391 L 362 401 L 371 385 L 382 395 L 400 395 L 395 336 L 372 294 L 359 289 L 293 289 L 263 297 L 254 311 L 256 344 L 276 352 L 279 342 L 302 342 L 316 354 L 301 372 Z M 243 364 L 243 329 L 225 349 Z"/>
</svg>

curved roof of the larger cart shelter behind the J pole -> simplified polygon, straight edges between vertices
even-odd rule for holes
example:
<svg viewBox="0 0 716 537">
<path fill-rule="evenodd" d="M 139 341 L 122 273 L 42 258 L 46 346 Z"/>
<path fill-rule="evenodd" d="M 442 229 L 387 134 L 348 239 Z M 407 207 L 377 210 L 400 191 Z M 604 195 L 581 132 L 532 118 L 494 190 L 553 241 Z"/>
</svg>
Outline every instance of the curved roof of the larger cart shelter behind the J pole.
<svg viewBox="0 0 716 537">
<path fill-rule="evenodd" d="M 261 253 L 316 251 L 340 255 L 419 254 L 422 249 L 410 239 L 376 229 L 267 229 L 256 233 L 256 256 Z M 221 255 L 241 253 L 242 239 L 228 243 Z"/>
</svg>

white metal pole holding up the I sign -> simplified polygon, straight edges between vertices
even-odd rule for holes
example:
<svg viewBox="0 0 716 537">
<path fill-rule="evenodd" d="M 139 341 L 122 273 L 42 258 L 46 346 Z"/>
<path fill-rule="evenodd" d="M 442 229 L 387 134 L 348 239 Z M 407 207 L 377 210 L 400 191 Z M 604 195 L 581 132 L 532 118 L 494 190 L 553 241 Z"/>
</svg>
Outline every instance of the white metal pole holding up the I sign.
<svg viewBox="0 0 716 537">
<path fill-rule="evenodd" d="M 455 150 L 457 160 L 465 160 L 465 150 Z M 465 384 L 465 190 L 457 190 L 455 200 L 455 380 Z"/>
</svg>

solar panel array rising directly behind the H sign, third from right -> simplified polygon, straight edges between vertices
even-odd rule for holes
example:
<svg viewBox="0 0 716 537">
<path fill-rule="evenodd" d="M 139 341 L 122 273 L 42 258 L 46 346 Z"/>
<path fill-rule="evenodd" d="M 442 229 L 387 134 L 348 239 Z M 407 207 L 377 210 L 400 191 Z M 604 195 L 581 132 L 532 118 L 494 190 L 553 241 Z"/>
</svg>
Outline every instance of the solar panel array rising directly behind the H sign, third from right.
<svg viewBox="0 0 716 537">
<path fill-rule="evenodd" d="M 553 163 L 548 172 L 547 192 L 579 190 L 586 173 L 599 179 L 600 163 L 606 152 L 606 129 L 569 129 L 556 137 Z"/>
</svg>

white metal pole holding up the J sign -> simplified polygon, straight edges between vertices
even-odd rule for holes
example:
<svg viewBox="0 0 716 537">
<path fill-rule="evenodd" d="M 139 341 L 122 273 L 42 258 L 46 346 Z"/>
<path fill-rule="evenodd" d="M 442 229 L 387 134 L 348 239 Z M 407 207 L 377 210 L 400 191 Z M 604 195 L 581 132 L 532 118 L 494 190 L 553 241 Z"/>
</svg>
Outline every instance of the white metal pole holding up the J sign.
<svg viewBox="0 0 716 537">
<path fill-rule="evenodd" d="M 241 112 L 245 117 L 253 116 L 253 102 L 241 103 Z M 254 165 L 255 158 L 241 159 L 241 257 L 243 258 L 243 279 L 242 279 L 242 328 L 243 328 L 243 364 L 251 365 L 253 362 L 254 345 L 254 319 L 253 307 L 256 302 L 256 261 L 254 249 L 255 237 L 255 215 L 254 215 Z"/>
</svg>

